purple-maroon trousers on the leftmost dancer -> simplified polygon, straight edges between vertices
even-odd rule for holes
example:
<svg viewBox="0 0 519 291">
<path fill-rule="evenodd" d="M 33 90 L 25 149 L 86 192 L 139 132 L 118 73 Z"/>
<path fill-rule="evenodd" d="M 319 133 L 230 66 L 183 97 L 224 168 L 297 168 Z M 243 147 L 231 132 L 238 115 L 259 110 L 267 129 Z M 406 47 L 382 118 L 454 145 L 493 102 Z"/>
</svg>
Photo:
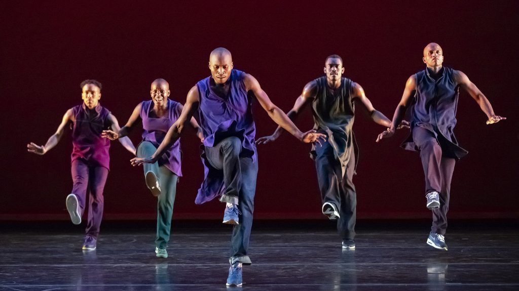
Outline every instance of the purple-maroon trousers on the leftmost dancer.
<svg viewBox="0 0 519 291">
<path fill-rule="evenodd" d="M 87 236 L 97 238 L 99 227 L 103 219 L 104 197 L 103 190 L 108 169 L 101 166 L 89 165 L 83 159 L 76 159 L 71 167 L 72 194 L 76 194 L 79 202 L 80 215 L 86 207 L 87 191 L 89 193 L 88 223 L 86 228 Z"/>
</svg>

